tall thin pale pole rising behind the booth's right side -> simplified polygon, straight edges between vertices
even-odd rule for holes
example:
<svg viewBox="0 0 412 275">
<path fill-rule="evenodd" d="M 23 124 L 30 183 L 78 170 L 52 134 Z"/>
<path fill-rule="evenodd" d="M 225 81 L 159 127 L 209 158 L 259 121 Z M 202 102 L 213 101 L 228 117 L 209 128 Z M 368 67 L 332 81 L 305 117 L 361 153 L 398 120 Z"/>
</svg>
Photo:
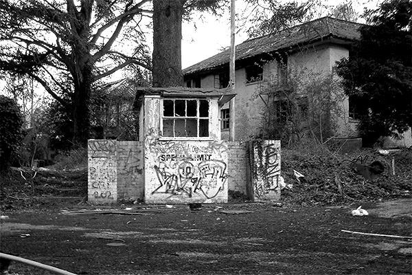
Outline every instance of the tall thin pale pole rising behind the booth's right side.
<svg viewBox="0 0 412 275">
<path fill-rule="evenodd" d="M 229 63 L 229 71 L 230 71 L 230 86 L 231 91 L 235 91 L 235 32 L 236 32 L 236 25 L 235 25 L 235 15 L 236 15 L 236 8 L 235 8 L 235 0 L 231 0 L 230 5 L 230 63 Z M 236 108 L 236 101 L 235 98 L 232 98 L 229 103 L 229 140 L 235 140 L 235 108 Z"/>
</svg>

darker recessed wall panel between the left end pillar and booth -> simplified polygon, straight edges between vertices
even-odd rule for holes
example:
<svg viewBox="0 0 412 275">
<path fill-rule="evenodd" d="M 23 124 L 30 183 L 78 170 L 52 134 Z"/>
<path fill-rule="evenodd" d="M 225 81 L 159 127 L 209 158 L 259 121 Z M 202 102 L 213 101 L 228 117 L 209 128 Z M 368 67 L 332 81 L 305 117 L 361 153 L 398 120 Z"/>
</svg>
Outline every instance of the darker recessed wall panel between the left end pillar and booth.
<svg viewBox="0 0 412 275">
<path fill-rule="evenodd" d="M 144 199 L 144 142 L 116 142 L 117 199 Z"/>
</svg>

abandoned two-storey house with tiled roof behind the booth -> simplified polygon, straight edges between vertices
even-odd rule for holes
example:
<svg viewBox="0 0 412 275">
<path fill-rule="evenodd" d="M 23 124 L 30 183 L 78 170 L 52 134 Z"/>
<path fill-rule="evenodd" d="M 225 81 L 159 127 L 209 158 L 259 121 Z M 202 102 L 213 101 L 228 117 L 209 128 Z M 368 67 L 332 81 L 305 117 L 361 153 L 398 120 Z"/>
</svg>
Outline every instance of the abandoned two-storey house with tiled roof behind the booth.
<svg viewBox="0 0 412 275">
<path fill-rule="evenodd" d="M 236 140 L 248 140 L 258 135 L 262 124 L 262 110 L 273 109 L 277 118 L 288 112 L 284 91 L 291 75 L 300 83 L 310 82 L 314 76 L 332 77 L 336 61 L 350 56 L 351 43 L 360 37 L 361 24 L 331 17 L 323 17 L 274 34 L 250 39 L 236 46 Z M 222 88 L 229 84 L 229 51 L 225 50 L 200 63 L 183 69 L 187 87 Z M 320 78 L 319 78 L 320 79 Z M 266 89 L 265 89 L 266 87 Z M 269 91 L 268 88 L 269 87 Z M 304 89 L 304 87 L 301 87 Z M 341 96 L 339 111 L 331 113 L 334 120 L 333 135 L 338 140 L 361 146 L 356 125 L 357 108 L 352 98 L 343 95 L 339 87 L 332 94 Z M 261 92 L 261 91 L 266 92 Z M 272 96 L 271 96 L 272 95 Z M 282 96 L 283 95 L 283 96 Z M 305 120 L 310 115 L 307 91 L 298 92 L 297 113 Z M 229 135 L 229 104 L 220 110 L 222 139 Z M 411 131 L 404 139 L 393 141 L 398 146 L 411 146 Z"/>
</svg>

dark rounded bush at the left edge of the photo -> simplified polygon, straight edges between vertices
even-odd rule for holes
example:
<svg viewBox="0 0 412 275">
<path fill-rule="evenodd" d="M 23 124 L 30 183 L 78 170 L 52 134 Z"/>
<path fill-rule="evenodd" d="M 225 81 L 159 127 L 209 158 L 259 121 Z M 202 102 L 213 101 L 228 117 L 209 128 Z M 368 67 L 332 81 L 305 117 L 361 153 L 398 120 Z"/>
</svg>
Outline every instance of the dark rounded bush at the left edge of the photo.
<svg viewBox="0 0 412 275">
<path fill-rule="evenodd" d="M 17 103 L 0 96 L 0 170 L 10 166 L 13 153 L 19 148 L 23 133 L 23 117 Z"/>
</svg>

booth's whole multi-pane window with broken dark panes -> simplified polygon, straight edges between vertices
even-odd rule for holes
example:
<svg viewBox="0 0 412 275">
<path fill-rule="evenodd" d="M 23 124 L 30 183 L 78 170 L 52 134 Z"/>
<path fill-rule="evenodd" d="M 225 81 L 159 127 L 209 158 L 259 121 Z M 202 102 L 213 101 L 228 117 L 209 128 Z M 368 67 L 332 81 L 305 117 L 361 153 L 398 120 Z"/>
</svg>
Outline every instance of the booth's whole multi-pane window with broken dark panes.
<svg viewBox="0 0 412 275">
<path fill-rule="evenodd" d="M 164 99 L 164 137 L 209 137 L 209 101 Z"/>
</svg>

